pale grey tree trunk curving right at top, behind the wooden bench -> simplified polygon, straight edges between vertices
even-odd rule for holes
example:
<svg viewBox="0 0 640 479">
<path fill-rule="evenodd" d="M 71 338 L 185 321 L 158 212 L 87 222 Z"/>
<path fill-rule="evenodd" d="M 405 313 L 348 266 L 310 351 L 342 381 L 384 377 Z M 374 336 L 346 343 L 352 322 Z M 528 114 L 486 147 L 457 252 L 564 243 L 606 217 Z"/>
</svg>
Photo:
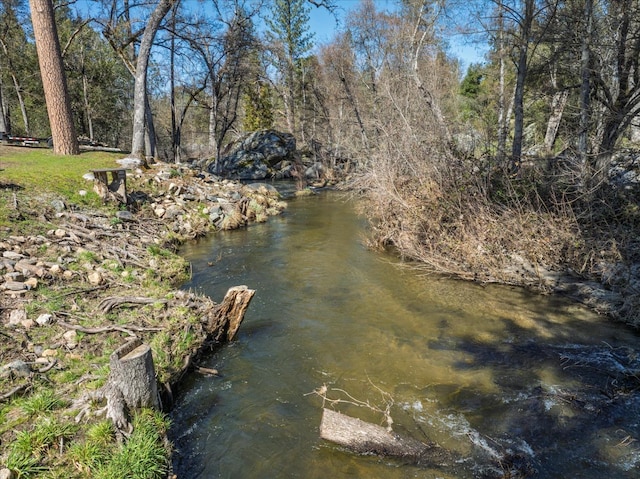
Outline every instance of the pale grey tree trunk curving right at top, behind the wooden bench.
<svg viewBox="0 0 640 479">
<path fill-rule="evenodd" d="M 162 19 L 169 12 L 175 1 L 176 0 L 160 0 L 149 18 L 147 26 L 144 29 L 144 33 L 142 34 L 142 40 L 140 41 L 133 91 L 133 139 L 131 143 L 131 155 L 134 158 L 144 159 L 145 157 L 144 132 L 147 97 L 147 67 L 149 66 L 151 47 L 153 46 L 153 40 L 156 36 L 156 32 L 158 31 L 158 28 L 160 28 L 160 22 L 162 22 Z"/>
</svg>

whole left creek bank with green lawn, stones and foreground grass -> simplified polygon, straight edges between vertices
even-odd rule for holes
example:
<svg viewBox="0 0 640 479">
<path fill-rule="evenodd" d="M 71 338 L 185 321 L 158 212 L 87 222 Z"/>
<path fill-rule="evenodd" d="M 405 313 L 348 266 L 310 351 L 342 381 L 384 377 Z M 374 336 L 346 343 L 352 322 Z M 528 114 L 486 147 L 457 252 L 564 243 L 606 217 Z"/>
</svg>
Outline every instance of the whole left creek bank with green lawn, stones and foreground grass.
<svg viewBox="0 0 640 479">
<path fill-rule="evenodd" d="M 267 194 L 213 180 L 198 187 L 220 203 L 185 201 L 176 188 L 196 184 L 195 175 L 155 165 L 130 172 L 129 191 L 146 200 L 123 220 L 124 208 L 103 205 L 82 178 L 117 166 L 118 157 L 0 150 L 0 469 L 12 477 L 166 475 L 166 417 L 136 412 L 133 433 L 123 435 L 90 396 L 108 381 L 111 353 L 135 336 L 150 345 L 169 403 L 172 386 L 209 341 L 215 310 L 208 298 L 176 289 L 189 267 L 175 246 L 230 224 L 213 223 L 210 210 L 220 206 L 234 226 L 282 207 Z M 174 211 L 171 218 L 164 209 Z M 22 281 L 29 287 L 11 290 Z"/>
</svg>

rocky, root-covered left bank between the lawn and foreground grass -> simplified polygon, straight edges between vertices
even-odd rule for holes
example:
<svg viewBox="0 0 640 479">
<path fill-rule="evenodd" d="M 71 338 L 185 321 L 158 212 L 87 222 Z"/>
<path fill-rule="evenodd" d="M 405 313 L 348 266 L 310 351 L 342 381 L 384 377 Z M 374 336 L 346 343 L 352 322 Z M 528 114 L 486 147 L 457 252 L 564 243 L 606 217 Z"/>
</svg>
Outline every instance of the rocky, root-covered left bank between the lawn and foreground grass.
<svg viewBox="0 0 640 479">
<path fill-rule="evenodd" d="M 178 289 L 189 275 L 178 247 L 266 221 L 286 207 L 269 185 L 186 166 L 133 169 L 127 182 L 128 208 L 86 210 L 60 198 L 13 196 L 16 225 L 33 226 L 0 231 L 0 404 L 9 415 L 0 428 L 0 458 L 34 419 L 20 417 L 14 399 L 48 384 L 64 397 L 61 417 L 90 422 L 101 405 L 83 404 L 78 417 L 78 399 L 105 384 L 109 355 L 132 338 L 151 346 L 170 405 L 181 377 L 218 343 L 208 327 L 218 305 Z"/>
</svg>

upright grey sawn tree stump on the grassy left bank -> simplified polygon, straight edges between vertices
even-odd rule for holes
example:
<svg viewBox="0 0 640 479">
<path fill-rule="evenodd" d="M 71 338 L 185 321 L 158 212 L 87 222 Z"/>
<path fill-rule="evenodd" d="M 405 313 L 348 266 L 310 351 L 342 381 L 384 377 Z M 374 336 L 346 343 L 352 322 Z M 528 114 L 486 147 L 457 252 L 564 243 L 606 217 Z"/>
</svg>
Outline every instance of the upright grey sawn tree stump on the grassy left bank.
<svg viewBox="0 0 640 479">
<path fill-rule="evenodd" d="M 160 409 L 151 348 L 134 339 L 109 358 L 111 372 L 105 386 L 107 417 L 119 429 L 129 427 L 128 412 L 143 407 Z"/>
</svg>

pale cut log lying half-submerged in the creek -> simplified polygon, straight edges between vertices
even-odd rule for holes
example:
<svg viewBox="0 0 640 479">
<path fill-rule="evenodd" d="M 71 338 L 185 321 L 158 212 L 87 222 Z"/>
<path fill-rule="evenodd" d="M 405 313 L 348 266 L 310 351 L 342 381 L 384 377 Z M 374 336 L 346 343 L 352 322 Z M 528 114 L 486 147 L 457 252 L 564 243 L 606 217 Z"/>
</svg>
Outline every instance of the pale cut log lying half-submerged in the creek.
<svg viewBox="0 0 640 479">
<path fill-rule="evenodd" d="M 326 408 L 322 410 L 320 437 L 358 454 L 397 457 L 415 464 L 438 466 L 451 462 L 451 454 L 437 444 L 401 436 L 377 424 Z"/>
</svg>

